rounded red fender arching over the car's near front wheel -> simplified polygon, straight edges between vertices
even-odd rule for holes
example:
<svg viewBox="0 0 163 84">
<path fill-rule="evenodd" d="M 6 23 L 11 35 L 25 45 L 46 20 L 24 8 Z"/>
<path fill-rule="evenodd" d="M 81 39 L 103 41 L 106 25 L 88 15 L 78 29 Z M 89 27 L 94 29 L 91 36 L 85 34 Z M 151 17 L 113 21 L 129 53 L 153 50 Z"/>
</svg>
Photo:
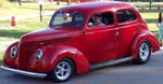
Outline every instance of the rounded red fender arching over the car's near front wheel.
<svg viewBox="0 0 163 84">
<path fill-rule="evenodd" d="M 63 58 L 71 58 L 74 61 L 77 73 L 84 73 L 89 70 L 88 60 L 77 48 L 66 45 L 48 46 L 46 48 L 47 52 L 40 62 L 38 62 L 37 70 L 51 72 L 55 65 Z"/>
</svg>

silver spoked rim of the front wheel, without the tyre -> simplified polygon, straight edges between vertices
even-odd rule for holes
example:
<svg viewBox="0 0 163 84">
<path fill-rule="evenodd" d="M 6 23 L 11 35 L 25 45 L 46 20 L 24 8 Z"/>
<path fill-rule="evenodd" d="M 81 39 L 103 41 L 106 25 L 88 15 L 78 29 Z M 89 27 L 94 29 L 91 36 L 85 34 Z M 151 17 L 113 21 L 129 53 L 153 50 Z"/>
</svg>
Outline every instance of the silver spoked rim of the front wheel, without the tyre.
<svg viewBox="0 0 163 84">
<path fill-rule="evenodd" d="M 71 75 L 71 65 L 67 61 L 61 61 L 55 68 L 55 75 L 59 80 L 66 80 Z"/>
</svg>

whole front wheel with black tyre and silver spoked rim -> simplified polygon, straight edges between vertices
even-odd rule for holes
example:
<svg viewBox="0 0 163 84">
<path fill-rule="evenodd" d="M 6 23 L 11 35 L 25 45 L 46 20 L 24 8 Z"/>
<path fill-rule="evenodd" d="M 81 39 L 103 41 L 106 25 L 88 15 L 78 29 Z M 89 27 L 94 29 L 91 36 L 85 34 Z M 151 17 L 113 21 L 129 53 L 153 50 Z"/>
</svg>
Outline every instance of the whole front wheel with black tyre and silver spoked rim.
<svg viewBox="0 0 163 84">
<path fill-rule="evenodd" d="M 58 62 L 55 68 L 51 72 L 51 78 L 55 82 L 65 82 L 67 81 L 73 74 L 75 67 L 71 59 L 64 58 Z"/>
</svg>

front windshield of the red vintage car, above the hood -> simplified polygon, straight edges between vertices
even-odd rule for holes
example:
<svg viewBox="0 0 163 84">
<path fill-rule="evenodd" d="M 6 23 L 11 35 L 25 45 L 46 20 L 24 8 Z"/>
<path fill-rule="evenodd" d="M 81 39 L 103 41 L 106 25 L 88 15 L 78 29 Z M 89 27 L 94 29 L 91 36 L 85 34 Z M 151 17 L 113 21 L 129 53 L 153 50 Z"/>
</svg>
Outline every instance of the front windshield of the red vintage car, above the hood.
<svg viewBox="0 0 163 84">
<path fill-rule="evenodd" d="M 51 19 L 50 26 L 83 27 L 84 15 L 77 12 L 55 13 Z"/>
</svg>

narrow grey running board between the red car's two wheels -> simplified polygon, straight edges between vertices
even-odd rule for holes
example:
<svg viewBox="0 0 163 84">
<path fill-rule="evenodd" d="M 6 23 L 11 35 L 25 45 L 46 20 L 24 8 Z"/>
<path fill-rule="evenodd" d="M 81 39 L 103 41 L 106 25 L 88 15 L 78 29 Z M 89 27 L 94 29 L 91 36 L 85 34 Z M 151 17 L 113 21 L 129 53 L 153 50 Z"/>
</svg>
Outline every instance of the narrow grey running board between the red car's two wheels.
<svg viewBox="0 0 163 84">
<path fill-rule="evenodd" d="M 128 60 L 131 60 L 131 59 L 133 59 L 133 57 L 129 56 L 129 57 L 120 58 L 120 59 L 115 59 L 115 60 L 109 60 L 109 61 L 104 61 L 104 62 L 100 62 L 100 64 L 93 64 L 93 65 L 90 65 L 90 70 L 96 70 L 96 69 L 99 69 L 99 68 L 116 65 L 116 64 L 128 61 Z"/>
</svg>

